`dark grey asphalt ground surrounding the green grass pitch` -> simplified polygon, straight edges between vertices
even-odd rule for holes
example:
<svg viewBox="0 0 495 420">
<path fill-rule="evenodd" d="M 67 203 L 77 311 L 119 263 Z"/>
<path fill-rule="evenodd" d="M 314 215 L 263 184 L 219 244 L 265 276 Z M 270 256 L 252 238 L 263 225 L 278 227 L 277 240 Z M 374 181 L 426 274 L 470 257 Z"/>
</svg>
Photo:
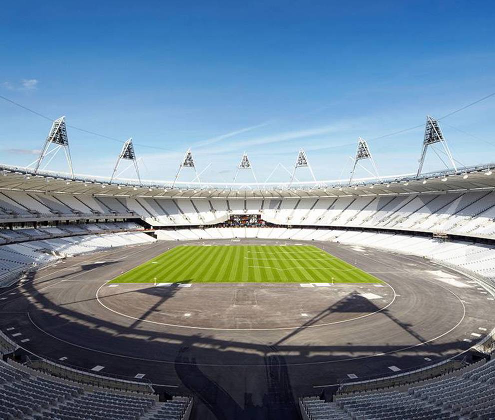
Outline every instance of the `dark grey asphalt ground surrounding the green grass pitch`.
<svg viewBox="0 0 495 420">
<path fill-rule="evenodd" d="M 81 255 L 40 270 L 0 291 L 0 328 L 59 363 L 143 373 L 170 393 L 194 395 L 193 419 L 290 420 L 299 418 L 298 396 L 349 375 L 437 363 L 495 325 L 494 301 L 469 278 L 423 258 L 338 243 L 311 242 L 385 283 L 106 284 L 177 244 Z"/>
</svg>

